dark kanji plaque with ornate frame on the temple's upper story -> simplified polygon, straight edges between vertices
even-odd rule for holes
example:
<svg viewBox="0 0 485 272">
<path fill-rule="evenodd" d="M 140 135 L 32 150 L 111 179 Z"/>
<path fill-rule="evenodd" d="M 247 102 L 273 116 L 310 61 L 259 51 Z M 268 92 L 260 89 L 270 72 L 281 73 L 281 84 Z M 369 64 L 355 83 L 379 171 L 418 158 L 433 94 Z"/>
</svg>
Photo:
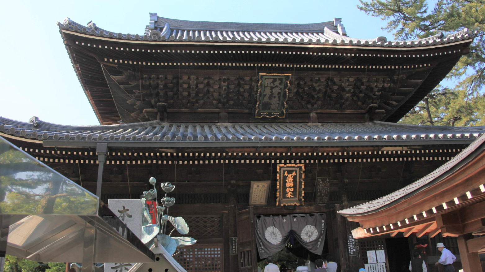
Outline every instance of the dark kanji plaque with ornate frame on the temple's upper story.
<svg viewBox="0 0 485 272">
<path fill-rule="evenodd" d="M 290 74 L 259 74 L 256 118 L 286 115 Z"/>
</svg>

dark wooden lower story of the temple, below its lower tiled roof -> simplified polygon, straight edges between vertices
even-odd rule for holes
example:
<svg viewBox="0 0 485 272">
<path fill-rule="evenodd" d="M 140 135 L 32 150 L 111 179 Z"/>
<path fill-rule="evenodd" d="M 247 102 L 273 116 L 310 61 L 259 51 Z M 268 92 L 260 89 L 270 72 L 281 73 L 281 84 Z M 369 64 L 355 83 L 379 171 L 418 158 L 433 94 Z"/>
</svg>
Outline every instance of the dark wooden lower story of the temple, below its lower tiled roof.
<svg viewBox="0 0 485 272">
<path fill-rule="evenodd" d="M 102 156 L 96 153 L 96 143 L 72 142 L 69 144 L 78 147 L 69 148 L 66 142 L 27 141 L 6 134 L 5 130 L 10 132 L 16 127 L 24 128 L 29 124 L 20 125 L 5 119 L 2 122 L 15 125 L 8 129 L 2 125 L 2 136 L 71 180 L 96 192 L 98 160 Z M 477 128 L 466 130 L 477 131 Z M 436 139 L 433 142 L 440 141 Z M 396 140 L 387 140 L 386 143 L 392 142 L 396 143 Z M 191 268 L 192 271 L 231 271 L 235 267 L 241 271 L 255 269 L 258 260 L 254 242 L 255 214 L 324 212 L 328 218 L 328 252 L 324 254 L 333 257 L 341 265 L 341 271 L 352 270 L 365 261 L 362 255 L 350 256 L 347 252 L 347 236 L 358 226 L 337 215 L 336 211 L 378 198 L 411 183 L 452 158 L 467 145 L 466 138 L 441 141 L 453 142 L 448 145 L 430 144 L 429 141 L 425 145 L 413 140 L 408 142 L 413 145 L 381 146 L 379 149 L 365 146 L 312 148 L 318 152 L 308 152 L 310 148 L 290 147 L 259 150 L 245 148 L 231 152 L 217 149 L 196 151 L 192 148 L 174 152 L 160 148 L 154 151 L 154 148 L 127 147 L 126 144 L 119 148 L 108 143 L 101 174 L 101 197 L 105 201 L 110 198 L 135 198 L 149 188 L 147 180 L 150 176 L 176 185 L 173 193 L 177 205 L 170 208 L 170 214 L 183 216 L 191 228 L 189 235 L 197 239 L 193 247 L 183 248 L 176 256 L 188 271 Z M 91 143 L 93 147 L 79 147 Z M 130 144 L 143 146 L 146 142 Z M 293 207 L 294 210 L 286 210 L 276 206 L 276 166 L 292 163 L 306 166 L 303 189 L 305 203 Z M 324 205 L 317 205 L 316 202 L 318 192 L 315 191 L 315 185 L 318 177 L 329 177 L 330 181 L 328 201 Z M 251 181 L 270 181 L 265 205 L 249 205 Z M 235 237 L 237 251 L 231 247 Z M 412 247 L 413 239 L 409 239 Z M 380 249 L 382 246 L 382 243 L 368 243 L 365 240 L 358 242 L 369 250 Z"/>
</svg>

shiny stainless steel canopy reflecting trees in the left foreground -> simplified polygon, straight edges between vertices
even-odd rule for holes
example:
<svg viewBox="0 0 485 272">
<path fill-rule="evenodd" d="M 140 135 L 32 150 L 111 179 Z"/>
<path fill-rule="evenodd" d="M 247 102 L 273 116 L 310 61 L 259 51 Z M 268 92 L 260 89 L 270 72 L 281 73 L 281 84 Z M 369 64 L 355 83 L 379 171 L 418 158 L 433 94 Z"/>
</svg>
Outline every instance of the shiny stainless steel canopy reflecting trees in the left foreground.
<svg viewBox="0 0 485 272">
<path fill-rule="evenodd" d="M 154 262 L 97 196 L 0 137 L 0 254 L 41 262 Z"/>
</svg>

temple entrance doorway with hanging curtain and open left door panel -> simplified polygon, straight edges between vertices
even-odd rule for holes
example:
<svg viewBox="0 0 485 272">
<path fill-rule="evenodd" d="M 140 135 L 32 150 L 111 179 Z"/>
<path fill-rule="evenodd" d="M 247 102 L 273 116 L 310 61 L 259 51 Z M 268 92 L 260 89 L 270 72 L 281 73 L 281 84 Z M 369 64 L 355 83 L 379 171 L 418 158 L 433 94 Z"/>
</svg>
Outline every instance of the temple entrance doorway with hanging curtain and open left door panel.
<svg viewBox="0 0 485 272">
<path fill-rule="evenodd" d="M 264 264 L 270 256 L 281 255 L 290 269 L 298 257 L 314 261 L 328 256 L 325 213 L 254 214 L 250 206 L 237 213 L 236 221 L 239 272 L 258 271 L 259 261 Z"/>
</svg>

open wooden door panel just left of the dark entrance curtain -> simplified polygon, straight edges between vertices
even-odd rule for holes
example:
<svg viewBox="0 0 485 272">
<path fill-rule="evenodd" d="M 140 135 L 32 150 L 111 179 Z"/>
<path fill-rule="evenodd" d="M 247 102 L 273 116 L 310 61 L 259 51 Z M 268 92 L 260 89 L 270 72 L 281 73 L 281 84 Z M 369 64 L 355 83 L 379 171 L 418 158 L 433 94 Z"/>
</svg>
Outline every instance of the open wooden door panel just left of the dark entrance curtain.
<svg viewBox="0 0 485 272">
<path fill-rule="evenodd" d="M 239 272 L 255 272 L 258 258 L 254 234 L 254 213 L 251 206 L 237 215 Z"/>
</svg>

